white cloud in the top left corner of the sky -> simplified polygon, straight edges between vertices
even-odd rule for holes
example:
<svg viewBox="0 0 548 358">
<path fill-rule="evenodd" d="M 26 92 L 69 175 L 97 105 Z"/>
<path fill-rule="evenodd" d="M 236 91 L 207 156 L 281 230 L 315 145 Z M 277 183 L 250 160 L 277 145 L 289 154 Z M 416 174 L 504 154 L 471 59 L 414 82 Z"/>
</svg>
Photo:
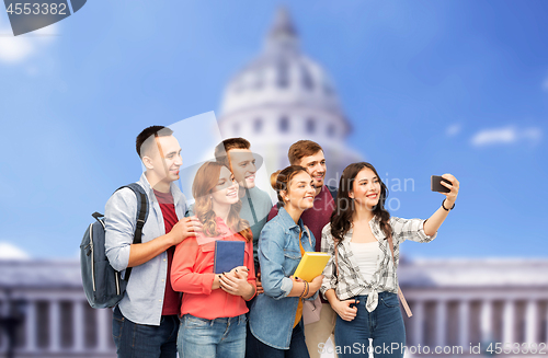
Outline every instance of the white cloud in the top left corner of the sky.
<svg viewBox="0 0 548 358">
<path fill-rule="evenodd" d="M 10 24 L 0 22 L 0 62 L 21 63 L 52 44 L 58 35 L 58 25 L 52 24 L 27 35 L 13 36 Z"/>
</svg>

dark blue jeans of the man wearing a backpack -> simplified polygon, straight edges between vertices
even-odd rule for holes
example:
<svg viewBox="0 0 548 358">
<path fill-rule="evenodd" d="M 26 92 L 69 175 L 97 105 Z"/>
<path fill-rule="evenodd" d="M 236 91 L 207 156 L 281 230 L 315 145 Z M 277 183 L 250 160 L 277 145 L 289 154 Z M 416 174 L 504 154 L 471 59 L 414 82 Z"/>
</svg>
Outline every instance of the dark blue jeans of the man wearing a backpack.
<svg viewBox="0 0 548 358">
<path fill-rule="evenodd" d="M 112 336 L 118 358 L 175 358 L 176 315 L 162 315 L 160 325 L 138 324 L 126 319 L 118 307 L 112 319 Z"/>
</svg>

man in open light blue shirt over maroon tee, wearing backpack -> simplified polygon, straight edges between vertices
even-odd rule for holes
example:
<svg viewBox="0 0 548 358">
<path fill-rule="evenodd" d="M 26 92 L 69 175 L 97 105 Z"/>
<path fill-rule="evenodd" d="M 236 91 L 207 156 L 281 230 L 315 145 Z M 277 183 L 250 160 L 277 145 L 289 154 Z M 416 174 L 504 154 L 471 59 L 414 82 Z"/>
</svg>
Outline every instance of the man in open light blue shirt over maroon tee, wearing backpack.
<svg viewBox="0 0 548 358">
<path fill-rule="evenodd" d="M 139 182 L 147 194 L 148 218 L 142 243 L 133 244 L 137 198 L 117 190 L 105 207 L 105 251 L 116 270 L 134 267 L 122 301 L 113 313 L 118 357 L 176 357 L 180 293 L 173 291 L 170 266 L 176 244 L 194 236 L 202 224 L 185 218 L 186 200 L 176 186 L 181 147 L 173 131 L 152 126 L 142 130 L 136 149 L 146 168 Z"/>
</svg>

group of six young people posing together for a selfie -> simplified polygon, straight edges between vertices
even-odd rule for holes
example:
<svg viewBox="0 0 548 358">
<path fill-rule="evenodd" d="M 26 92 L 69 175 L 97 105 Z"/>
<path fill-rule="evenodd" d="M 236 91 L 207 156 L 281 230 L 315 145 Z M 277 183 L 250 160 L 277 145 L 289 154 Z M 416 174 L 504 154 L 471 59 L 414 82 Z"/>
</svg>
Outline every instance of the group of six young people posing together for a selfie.
<svg viewBox="0 0 548 358">
<path fill-rule="evenodd" d="M 399 245 L 435 238 L 458 194 L 453 175 L 444 175 L 450 190 L 427 220 L 390 217 L 388 189 L 372 164 L 346 166 L 335 189 L 323 182 L 322 148 L 300 140 L 289 148 L 290 165 L 271 176 L 272 206 L 255 186 L 249 141 L 230 138 L 196 172 L 187 208 L 174 184 L 182 160 L 172 130 L 149 127 L 136 147 L 151 207 L 142 243 L 132 243 L 137 209 L 129 189 L 105 208 L 109 261 L 118 270 L 134 267 L 113 313 L 118 357 L 316 358 L 333 333 L 341 358 L 368 356 L 354 347 L 369 338 L 374 348 L 404 345 Z M 242 266 L 214 273 L 219 240 L 244 242 Z M 330 254 L 323 275 L 294 277 L 304 253 L 315 251 Z M 304 302 L 319 295 L 320 317 L 305 325 Z M 402 353 L 375 351 L 385 356 Z"/>
</svg>

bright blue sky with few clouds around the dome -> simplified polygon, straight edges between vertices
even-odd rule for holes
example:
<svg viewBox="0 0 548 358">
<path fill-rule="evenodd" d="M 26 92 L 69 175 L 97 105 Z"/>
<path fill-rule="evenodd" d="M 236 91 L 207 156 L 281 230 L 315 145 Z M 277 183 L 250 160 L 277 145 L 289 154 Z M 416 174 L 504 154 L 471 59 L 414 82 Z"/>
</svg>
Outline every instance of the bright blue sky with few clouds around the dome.
<svg viewBox="0 0 548 358">
<path fill-rule="evenodd" d="M 460 182 L 438 238 L 404 255 L 547 257 L 548 2 L 517 0 L 88 1 L 16 37 L 0 12 L 0 249 L 77 257 L 91 213 L 140 176 L 136 135 L 218 112 L 281 5 L 393 216 L 439 207 L 431 175 Z"/>
</svg>

